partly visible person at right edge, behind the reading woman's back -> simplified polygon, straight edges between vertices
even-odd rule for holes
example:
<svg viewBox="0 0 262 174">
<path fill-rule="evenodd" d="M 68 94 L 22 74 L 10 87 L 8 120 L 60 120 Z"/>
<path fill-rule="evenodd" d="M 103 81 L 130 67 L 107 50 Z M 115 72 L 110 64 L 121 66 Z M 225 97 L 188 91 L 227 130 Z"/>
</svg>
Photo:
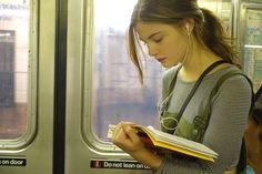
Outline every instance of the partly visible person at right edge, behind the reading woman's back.
<svg viewBox="0 0 262 174">
<path fill-rule="evenodd" d="M 244 137 L 248 151 L 248 174 L 262 174 L 262 86 L 255 94 Z"/>
</svg>

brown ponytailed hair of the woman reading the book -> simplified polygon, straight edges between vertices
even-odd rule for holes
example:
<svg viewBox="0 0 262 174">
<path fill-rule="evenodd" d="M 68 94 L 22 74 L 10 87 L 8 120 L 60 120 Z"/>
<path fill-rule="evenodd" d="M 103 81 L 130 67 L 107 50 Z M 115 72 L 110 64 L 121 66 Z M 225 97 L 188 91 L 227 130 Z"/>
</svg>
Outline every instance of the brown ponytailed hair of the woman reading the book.
<svg viewBox="0 0 262 174">
<path fill-rule="evenodd" d="M 206 9 L 198 7 L 196 0 L 138 0 L 129 27 L 128 49 L 131 61 L 138 69 L 141 83 L 143 70 L 139 59 L 139 38 L 134 29 L 138 21 L 161 22 L 182 27 L 185 19 L 194 20 L 193 34 L 200 44 L 233 63 L 236 58 L 233 41 L 225 37 L 220 20 Z"/>
</svg>

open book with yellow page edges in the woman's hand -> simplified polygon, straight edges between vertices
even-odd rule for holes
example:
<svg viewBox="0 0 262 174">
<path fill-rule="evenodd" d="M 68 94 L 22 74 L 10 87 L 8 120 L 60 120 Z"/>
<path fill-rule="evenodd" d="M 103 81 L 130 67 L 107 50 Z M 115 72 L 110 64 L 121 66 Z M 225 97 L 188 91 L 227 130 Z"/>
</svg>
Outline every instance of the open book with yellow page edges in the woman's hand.
<svg viewBox="0 0 262 174">
<path fill-rule="evenodd" d="M 112 136 L 113 129 L 114 125 L 110 124 L 108 131 L 109 139 Z M 218 157 L 218 153 L 201 143 L 155 130 L 153 126 L 135 125 L 134 129 L 138 130 L 138 134 L 145 145 L 175 151 L 211 162 L 214 162 L 214 158 Z"/>
</svg>

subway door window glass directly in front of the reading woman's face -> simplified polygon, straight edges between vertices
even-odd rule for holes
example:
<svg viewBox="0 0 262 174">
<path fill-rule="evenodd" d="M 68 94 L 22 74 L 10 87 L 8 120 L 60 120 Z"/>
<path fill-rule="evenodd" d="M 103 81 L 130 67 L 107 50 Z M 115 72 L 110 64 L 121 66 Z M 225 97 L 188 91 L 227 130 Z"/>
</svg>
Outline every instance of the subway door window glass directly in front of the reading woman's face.
<svg viewBox="0 0 262 174">
<path fill-rule="evenodd" d="M 140 85 L 127 53 L 125 30 L 135 2 L 94 1 L 92 125 L 102 141 L 107 141 L 108 125 L 120 121 L 159 126 L 157 103 L 162 68 L 152 58 L 145 58 L 145 81 Z"/>
</svg>

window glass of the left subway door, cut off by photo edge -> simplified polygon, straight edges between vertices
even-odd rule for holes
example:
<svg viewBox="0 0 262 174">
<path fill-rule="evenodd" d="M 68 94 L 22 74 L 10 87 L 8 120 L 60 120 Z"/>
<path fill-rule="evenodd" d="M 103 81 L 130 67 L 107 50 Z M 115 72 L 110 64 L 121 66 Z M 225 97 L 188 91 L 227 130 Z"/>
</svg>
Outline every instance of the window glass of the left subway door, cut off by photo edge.
<svg viewBox="0 0 262 174">
<path fill-rule="evenodd" d="M 28 34 L 28 0 L 0 0 L 0 140 L 27 130 Z"/>
</svg>

